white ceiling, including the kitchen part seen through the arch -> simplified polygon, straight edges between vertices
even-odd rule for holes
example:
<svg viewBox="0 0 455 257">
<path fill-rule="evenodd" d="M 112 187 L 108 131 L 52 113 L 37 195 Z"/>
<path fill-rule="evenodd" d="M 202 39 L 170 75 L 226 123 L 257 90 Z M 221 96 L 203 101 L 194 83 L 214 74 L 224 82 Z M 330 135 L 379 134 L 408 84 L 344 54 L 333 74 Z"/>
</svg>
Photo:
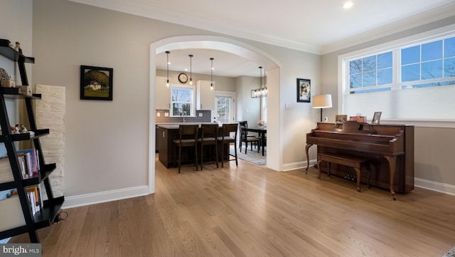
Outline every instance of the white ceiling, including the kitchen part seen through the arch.
<svg viewBox="0 0 455 257">
<path fill-rule="evenodd" d="M 276 46 L 330 53 L 407 28 L 455 15 L 454 0 L 71 0 L 151 19 L 178 23 Z M 237 77 L 259 76 L 259 65 L 223 51 L 174 50 L 170 70 Z M 166 69 L 166 53 L 156 57 Z"/>
</svg>

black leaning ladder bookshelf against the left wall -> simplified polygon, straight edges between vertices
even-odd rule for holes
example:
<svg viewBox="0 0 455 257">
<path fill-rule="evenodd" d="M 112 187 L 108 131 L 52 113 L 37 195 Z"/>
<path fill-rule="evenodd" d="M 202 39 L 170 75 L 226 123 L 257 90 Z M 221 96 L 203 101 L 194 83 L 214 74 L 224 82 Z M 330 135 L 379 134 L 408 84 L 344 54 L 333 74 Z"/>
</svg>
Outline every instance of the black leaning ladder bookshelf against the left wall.
<svg viewBox="0 0 455 257">
<path fill-rule="evenodd" d="M 25 63 L 35 63 L 35 58 L 24 56 L 22 53 L 15 51 L 9 46 L 0 46 L 0 55 L 5 56 L 18 64 L 19 73 L 21 75 L 21 83 L 22 85 L 28 85 Z M 34 132 L 34 135 L 31 133 L 11 134 L 5 98 L 12 100 L 25 100 L 30 130 Z M 48 135 L 49 130 L 38 129 L 36 127 L 32 100 L 39 99 L 41 99 L 41 94 L 26 95 L 21 93 L 21 90 L 18 87 L 0 88 L 0 125 L 2 131 L 2 134 L 0 135 L 0 142 L 4 143 L 6 147 L 6 152 L 9 156 L 8 159 L 11 164 L 11 170 L 14 177 L 14 181 L 12 182 L 0 183 L 0 190 L 17 189 L 18 200 L 21 203 L 22 215 L 26 223 L 23 226 L 0 231 L 0 238 L 8 238 L 18 234 L 28 233 L 31 243 L 39 243 L 36 231 L 38 229 L 45 228 L 46 226 L 50 226 L 50 224 L 53 223 L 55 217 L 61 211 L 61 206 L 65 201 L 64 196 L 54 197 L 52 188 L 50 187 L 49 176 L 56 169 L 56 164 L 46 164 L 43 157 L 40 137 Z M 23 179 L 22 177 L 21 169 L 18 164 L 16 145 L 14 143 L 23 140 L 33 141 L 33 145 L 38 153 L 38 162 L 40 163 L 40 170 L 38 170 L 38 174 L 34 174 L 32 177 L 26 179 Z M 41 182 L 43 182 L 45 186 L 47 200 L 43 201 L 43 208 L 41 208 L 40 211 L 36 212 L 36 214 L 32 214 L 31 206 L 28 204 L 26 187 L 38 185 L 41 184 Z"/>
</svg>

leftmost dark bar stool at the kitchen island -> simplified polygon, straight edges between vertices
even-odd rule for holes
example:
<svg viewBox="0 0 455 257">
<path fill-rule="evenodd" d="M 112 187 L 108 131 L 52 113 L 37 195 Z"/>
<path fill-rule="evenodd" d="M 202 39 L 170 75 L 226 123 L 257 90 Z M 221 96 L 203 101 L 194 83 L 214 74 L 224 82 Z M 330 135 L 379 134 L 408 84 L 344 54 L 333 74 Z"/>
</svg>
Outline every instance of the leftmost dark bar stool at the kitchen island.
<svg viewBox="0 0 455 257">
<path fill-rule="evenodd" d="M 176 145 L 174 148 L 174 164 L 176 161 L 176 148 L 178 147 L 178 173 L 180 173 L 182 160 L 182 147 L 194 147 L 194 159 L 196 170 L 198 169 L 198 125 L 179 125 L 178 140 L 172 140 Z M 189 151 L 188 151 L 189 152 Z"/>
</svg>

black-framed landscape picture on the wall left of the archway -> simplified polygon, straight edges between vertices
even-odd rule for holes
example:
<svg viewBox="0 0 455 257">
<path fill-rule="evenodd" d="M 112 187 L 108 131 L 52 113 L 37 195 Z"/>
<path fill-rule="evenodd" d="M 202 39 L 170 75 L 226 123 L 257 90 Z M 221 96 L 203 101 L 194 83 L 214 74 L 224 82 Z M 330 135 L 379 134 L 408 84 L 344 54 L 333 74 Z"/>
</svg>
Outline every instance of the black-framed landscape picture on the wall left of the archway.
<svg viewBox="0 0 455 257">
<path fill-rule="evenodd" d="M 113 68 L 80 65 L 80 99 L 112 101 Z"/>
</svg>

